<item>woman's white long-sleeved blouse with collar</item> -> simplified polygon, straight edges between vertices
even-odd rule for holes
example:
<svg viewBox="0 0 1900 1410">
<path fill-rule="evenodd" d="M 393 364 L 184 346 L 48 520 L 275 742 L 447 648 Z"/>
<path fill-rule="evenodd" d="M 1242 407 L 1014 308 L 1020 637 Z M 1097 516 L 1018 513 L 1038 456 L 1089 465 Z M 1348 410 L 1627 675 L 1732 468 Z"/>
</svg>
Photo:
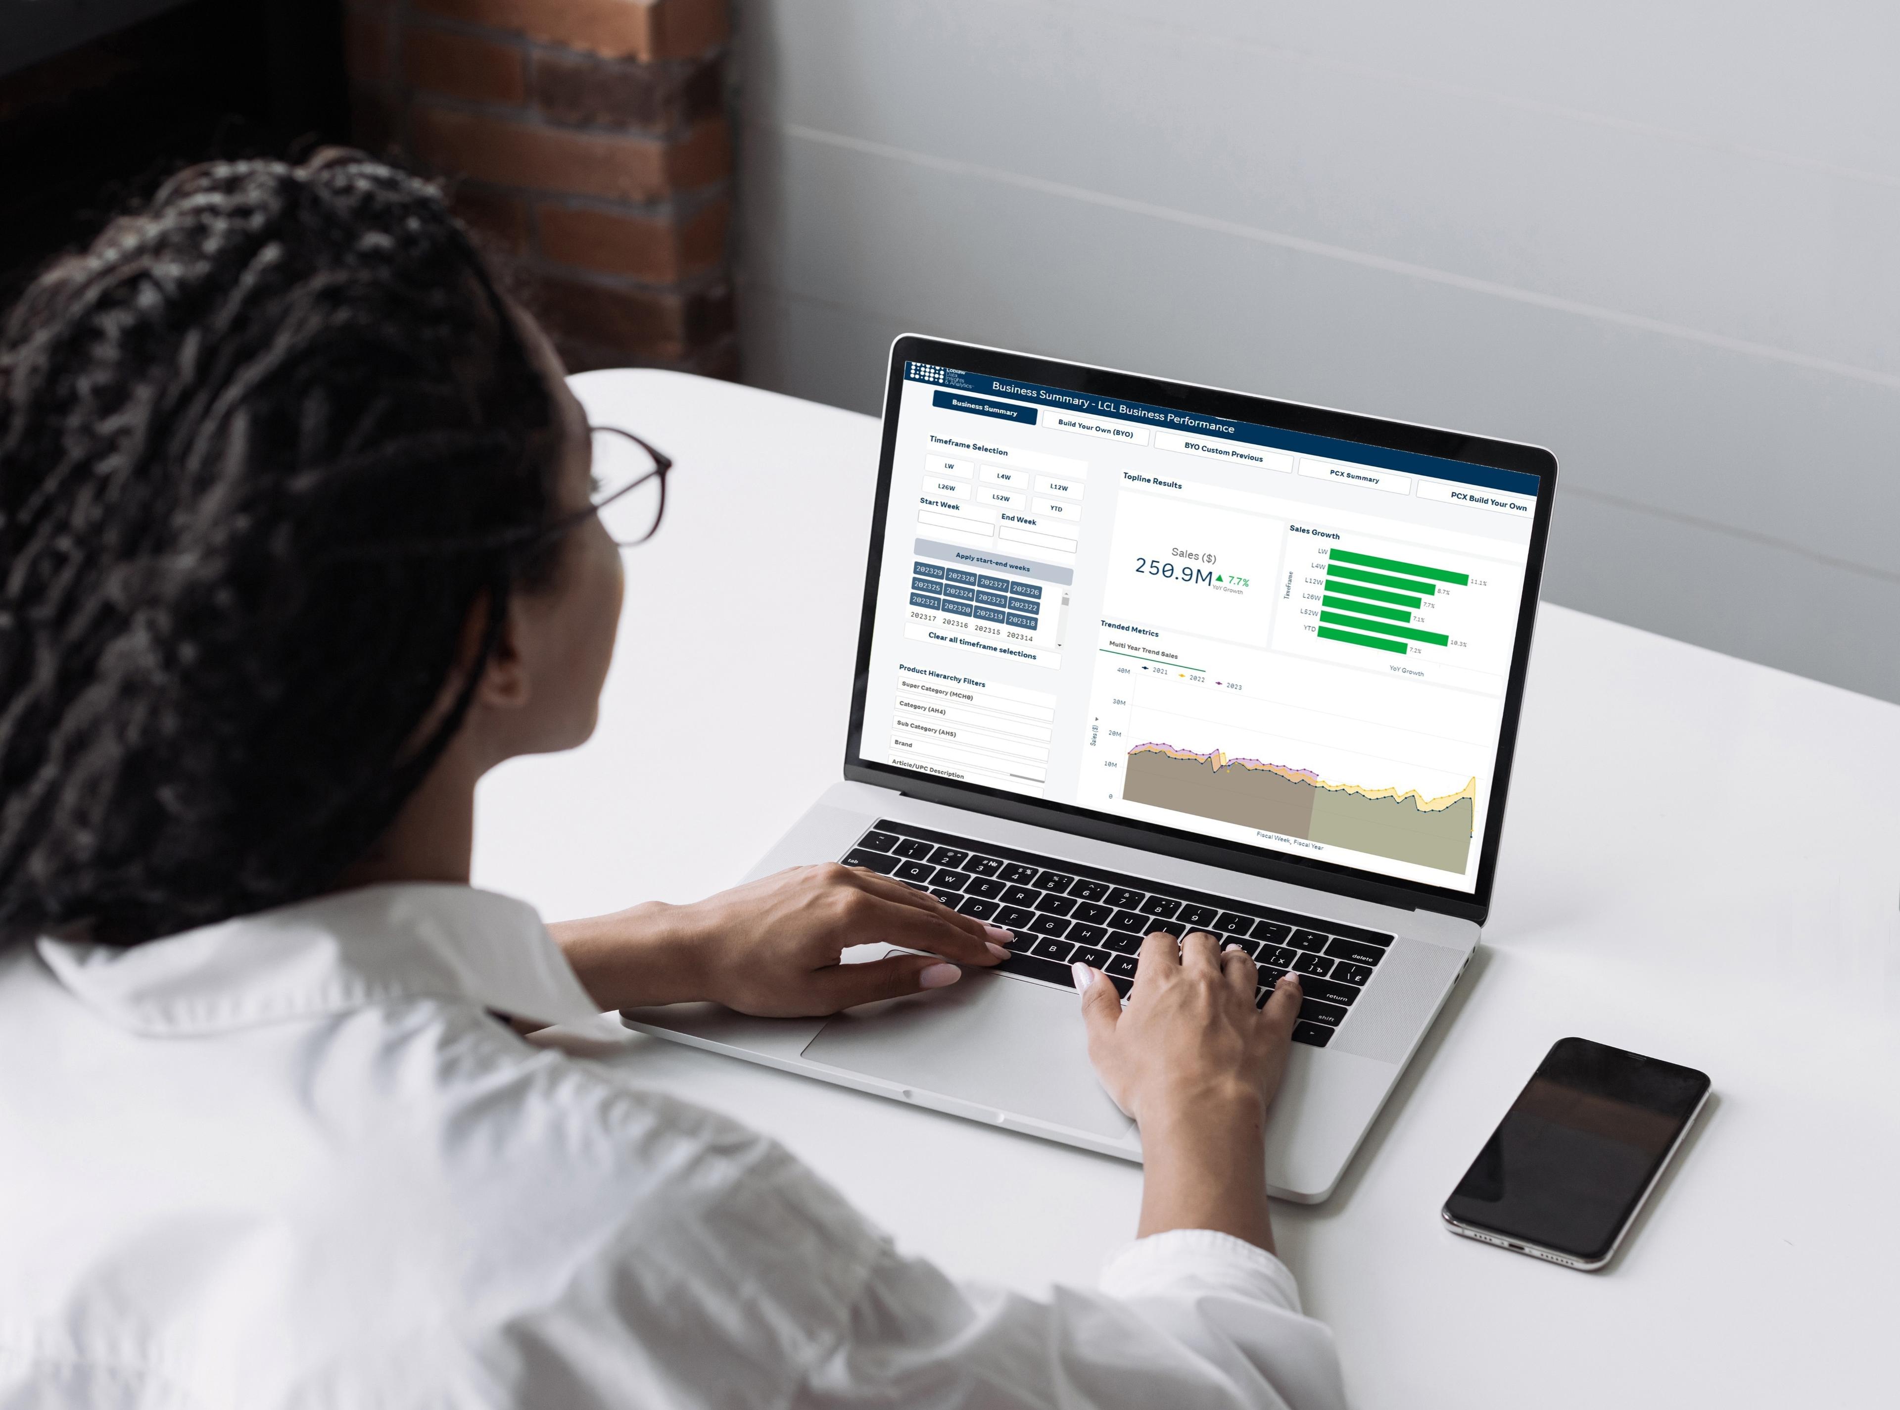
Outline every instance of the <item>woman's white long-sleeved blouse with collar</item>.
<svg viewBox="0 0 1900 1410">
<path fill-rule="evenodd" d="M 954 1283 L 494 1013 L 595 1005 L 534 910 L 456 886 L 0 952 L 0 1410 L 1343 1406 L 1271 1254 Z"/>
</svg>

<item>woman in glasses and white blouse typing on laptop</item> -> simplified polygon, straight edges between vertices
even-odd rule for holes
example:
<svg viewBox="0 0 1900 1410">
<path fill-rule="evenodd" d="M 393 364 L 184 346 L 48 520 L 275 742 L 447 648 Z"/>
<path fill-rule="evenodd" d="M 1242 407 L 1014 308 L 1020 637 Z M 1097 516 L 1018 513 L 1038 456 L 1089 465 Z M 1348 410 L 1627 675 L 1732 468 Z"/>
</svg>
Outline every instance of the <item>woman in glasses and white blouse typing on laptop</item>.
<svg viewBox="0 0 1900 1410">
<path fill-rule="evenodd" d="M 467 886 L 475 781 L 593 730 L 642 490 L 606 511 L 591 441 L 435 192 L 355 154 L 188 171 L 13 310 L 0 1406 L 1340 1404 L 1264 1195 L 1298 986 L 1256 1013 L 1212 937 L 1083 990 L 1146 1190 L 1047 1304 L 519 1036 L 1001 954 L 840 867 L 553 933 Z"/>
</svg>

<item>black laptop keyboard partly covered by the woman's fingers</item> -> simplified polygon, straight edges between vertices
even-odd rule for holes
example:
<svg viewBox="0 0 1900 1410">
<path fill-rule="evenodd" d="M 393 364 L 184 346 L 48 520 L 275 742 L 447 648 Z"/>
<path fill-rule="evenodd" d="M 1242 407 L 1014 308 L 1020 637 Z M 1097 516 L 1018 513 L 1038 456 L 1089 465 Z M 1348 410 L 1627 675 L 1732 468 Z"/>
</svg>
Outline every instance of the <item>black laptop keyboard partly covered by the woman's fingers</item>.
<svg viewBox="0 0 1900 1410">
<path fill-rule="evenodd" d="M 1294 1041 L 1326 1047 L 1385 958 L 1391 935 L 1336 920 L 1161 886 L 1092 867 L 880 819 L 842 857 L 846 867 L 895 876 L 965 916 L 1005 927 L 1013 954 L 998 969 L 1074 988 L 1075 960 L 1110 977 L 1123 998 L 1134 958 L 1153 931 L 1212 931 L 1260 963 L 1254 1003 L 1281 975 L 1300 975 L 1305 1001 Z"/>
</svg>

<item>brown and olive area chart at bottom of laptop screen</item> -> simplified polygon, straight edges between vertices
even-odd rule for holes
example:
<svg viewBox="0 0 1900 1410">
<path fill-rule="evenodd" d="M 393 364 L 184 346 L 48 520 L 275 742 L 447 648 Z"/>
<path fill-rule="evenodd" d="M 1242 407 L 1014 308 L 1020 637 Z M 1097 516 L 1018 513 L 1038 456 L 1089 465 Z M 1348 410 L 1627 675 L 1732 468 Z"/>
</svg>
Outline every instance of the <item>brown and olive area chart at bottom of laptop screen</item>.
<svg viewBox="0 0 1900 1410">
<path fill-rule="evenodd" d="M 1199 754 L 1144 743 L 1129 751 L 1121 796 L 1176 813 L 1463 872 L 1471 861 L 1478 781 L 1444 798 L 1423 798 L 1395 789 L 1326 783 L 1305 770 L 1227 758 L 1218 749 Z"/>
</svg>

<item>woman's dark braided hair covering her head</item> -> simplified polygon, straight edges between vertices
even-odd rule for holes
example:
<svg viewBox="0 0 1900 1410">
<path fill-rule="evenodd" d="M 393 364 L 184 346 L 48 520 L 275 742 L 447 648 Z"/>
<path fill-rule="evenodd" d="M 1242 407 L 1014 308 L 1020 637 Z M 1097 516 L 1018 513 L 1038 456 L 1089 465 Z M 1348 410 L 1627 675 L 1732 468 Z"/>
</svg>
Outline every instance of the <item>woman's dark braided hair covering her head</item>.
<svg viewBox="0 0 1900 1410">
<path fill-rule="evenodd" d="M 467 234 L 361 154 L 194 167 L 49 266 L 0 329 L 0 939 L 332 886 L 553 572 L 509 545 L 557 464 Z"/>
</svg>

